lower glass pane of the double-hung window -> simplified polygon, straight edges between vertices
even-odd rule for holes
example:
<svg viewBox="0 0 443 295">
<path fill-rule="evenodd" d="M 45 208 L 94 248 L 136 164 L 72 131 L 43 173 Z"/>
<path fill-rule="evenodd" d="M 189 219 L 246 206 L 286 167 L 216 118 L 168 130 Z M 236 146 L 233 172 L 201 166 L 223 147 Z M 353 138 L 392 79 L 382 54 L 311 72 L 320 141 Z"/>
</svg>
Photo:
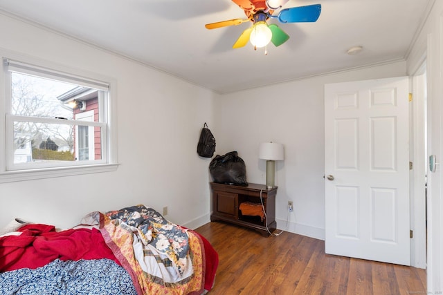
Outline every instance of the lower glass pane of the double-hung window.
<svg viewBox="0 0 443 295">
<path fill-rule="evenodd" d="M 97 126 L 14 122 L 14 164 L 100 160 L 100 133 Z"/>
</svg>

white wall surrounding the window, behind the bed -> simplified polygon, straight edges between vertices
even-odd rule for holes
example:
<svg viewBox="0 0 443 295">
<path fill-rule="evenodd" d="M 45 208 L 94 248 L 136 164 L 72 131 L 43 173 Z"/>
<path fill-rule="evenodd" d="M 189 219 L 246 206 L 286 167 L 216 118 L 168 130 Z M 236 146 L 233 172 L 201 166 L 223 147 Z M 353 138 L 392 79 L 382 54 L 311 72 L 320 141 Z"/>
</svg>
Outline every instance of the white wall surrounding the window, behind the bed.
<svg viewBox="0 0 443 295">
<path fill-rule="evenodd" d="M 208 221 L 209 160 L 196 149 L 217 95 L 4 15 L 0 35 L 3 51 L 116 79 L 120 163 L 115 172 L 0 184 L 0 227 L 15 217 L 72 227 L 91 211 L 134 204 L 168 206 L 170 220 L 190 227 Z"/>
</svg>

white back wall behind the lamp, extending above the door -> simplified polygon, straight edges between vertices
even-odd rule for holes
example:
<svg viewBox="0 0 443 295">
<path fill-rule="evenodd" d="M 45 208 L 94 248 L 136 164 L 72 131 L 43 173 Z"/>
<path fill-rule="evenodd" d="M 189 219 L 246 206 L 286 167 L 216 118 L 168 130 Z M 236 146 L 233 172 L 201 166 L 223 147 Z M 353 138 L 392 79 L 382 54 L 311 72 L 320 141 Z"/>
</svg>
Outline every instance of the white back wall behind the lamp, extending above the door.
<svg viewBox="0 0 443 295">
<path fill-rule="evenodd" d="M 324 239 L 324 84 L 406 75 L 406 62 L 222 95 L 215 101 L 217 153 L 237 151 L 246 163 L 248 182 L 266 182 L 266 161 L 258 159 L 260 142 L 284 144 L 276 162 L 276 218 L 279 229 Z"/>
</svg>

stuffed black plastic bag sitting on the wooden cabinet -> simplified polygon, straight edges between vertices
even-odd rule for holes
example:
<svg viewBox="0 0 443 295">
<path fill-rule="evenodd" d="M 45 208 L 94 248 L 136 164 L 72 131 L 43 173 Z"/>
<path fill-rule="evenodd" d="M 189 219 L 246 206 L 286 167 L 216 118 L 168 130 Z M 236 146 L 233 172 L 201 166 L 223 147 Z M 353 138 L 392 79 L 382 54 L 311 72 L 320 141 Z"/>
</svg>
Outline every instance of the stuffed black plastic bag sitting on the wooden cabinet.
<svg viewBox="0 0 443 295">
<path fill-rule="evenodd" d="M 224 184 L 248 185 L 246 182 L 246 165 L 237 151 L 225 155 L 216 155 L 209 164 L 210 175 L 214 182 Z"/>
</svg>

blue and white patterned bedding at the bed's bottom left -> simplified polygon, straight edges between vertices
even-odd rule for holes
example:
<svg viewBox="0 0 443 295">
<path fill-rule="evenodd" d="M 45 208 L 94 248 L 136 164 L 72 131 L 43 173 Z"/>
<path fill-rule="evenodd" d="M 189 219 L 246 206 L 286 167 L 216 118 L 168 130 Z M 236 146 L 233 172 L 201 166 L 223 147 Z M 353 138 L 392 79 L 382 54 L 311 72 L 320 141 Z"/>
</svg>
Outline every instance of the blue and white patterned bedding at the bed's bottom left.
<svg viewBox="0 0 443 295">
<path fill-rule="evenodd" d="M 136 295 L 129 274 L 114 261 L 54 260 L 37 269 L 0 273 L 2 295 Z"/>
</svg>

